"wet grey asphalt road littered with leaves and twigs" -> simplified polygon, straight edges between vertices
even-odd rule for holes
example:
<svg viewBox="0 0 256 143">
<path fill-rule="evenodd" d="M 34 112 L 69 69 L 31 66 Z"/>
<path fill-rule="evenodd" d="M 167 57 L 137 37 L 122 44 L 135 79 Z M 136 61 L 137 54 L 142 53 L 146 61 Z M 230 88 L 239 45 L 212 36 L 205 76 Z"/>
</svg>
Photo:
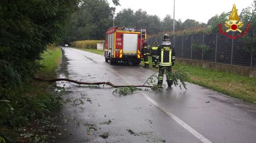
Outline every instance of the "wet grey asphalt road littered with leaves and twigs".
<svg viewBox="0 0 256 143">
<path fill-rule="evenodd" d="M 82 50 L 62 52 L 62 78 L 141 85 L 155 73 L 139 66 L 110 65 L 102 55 Z M 64 95 L 68 104 L 61 113 L 65 124 L 57 142 L 256 142 L 254 105 L 198 85 L 119 96 L 109 86 L 59 84 L 72 92 Z M 99 136 L 104 133 L 107 139 Z"/>
</svg>

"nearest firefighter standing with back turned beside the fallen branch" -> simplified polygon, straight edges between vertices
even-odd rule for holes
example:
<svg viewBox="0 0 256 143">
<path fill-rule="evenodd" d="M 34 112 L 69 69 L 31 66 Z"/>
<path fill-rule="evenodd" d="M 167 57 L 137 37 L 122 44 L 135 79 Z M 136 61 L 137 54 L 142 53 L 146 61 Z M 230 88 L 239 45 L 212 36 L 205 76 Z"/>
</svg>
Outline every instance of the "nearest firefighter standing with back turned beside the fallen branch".
<svg viewBox="0 0 256 143">
<path fill-rule="evenodd" d="M 170 36 L 168 34 L 163 35 L 162 44 L 157 49 L 156 60 L 159 64 L 159 74 L 157 85 L 162 86 L 164 79 L 164 72 L 166 70 L 166 80 L 169 87 L 173 85 L 173 79 L 171 77 L 171 66 L 175 62 L 175 51 L 171 46 Z"/>
</svg>

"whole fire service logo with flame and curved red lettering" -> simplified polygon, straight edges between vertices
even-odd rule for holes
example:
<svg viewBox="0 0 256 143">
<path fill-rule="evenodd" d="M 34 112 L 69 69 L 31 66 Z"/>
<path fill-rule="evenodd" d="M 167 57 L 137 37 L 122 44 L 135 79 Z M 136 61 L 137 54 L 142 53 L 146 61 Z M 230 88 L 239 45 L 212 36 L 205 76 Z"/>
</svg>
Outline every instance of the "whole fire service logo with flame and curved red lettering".
<svg viewBox="0 0 256 143">
<path fill-rule="evenodd" d="M 227 30 L 223 30 L 222 28 L 222 24 L 219 23 L 218 27 L 219 27 L 219 33 L 223 34 L 225 36 L 227 36 L 229 39 L 238 39 L 243 37 L 249 30 L 250 24 L 247 24 L 246 29 L 244 30 L 244 32 L 242 33 L 242 28 L 243 28 L 243 22 L 239 21 L 239 16 L 238 16 L 238 12 L 237 12 L 237 8 L 235 7 L 235 4 L 233 5 L 232 11 L 230 13 L 229 16 L 229 20 L 225 22 L 225 27 L 227 27 Z M 228 33 L 232 31 L 232 32 L 239 32 L 240 34 L 237 35 L 228 35 Z"/>
</svg>

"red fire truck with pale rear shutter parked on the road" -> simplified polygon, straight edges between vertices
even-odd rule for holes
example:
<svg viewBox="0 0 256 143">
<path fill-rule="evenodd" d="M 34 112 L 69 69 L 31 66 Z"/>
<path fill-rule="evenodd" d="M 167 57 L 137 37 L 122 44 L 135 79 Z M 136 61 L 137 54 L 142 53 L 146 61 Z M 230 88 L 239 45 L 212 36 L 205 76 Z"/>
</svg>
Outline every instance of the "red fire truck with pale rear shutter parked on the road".
<svg viewBox="0 0 256 143">
<path fill-rule="evenodd" d="M 146 39 L 146 29 L 112 27 L 105 38 L 105 61 L 110 64 L 131 62 L 140 64 L 141 47 Z"/>
</svg>

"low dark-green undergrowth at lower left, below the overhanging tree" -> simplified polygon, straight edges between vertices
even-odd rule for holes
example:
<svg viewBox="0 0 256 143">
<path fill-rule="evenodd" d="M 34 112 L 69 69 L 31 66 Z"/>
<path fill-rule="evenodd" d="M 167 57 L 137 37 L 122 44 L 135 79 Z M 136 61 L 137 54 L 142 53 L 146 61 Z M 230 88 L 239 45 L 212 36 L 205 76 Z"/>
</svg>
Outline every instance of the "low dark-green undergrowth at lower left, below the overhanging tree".
<svg viewBox="0 0 256 143">
<path fill-rule="evenodd" d="M 45 88 L 46 83 L 33 82 L 23 89 L 6 91 L 8 96 L 0 100 L 0 125 L 26 126 L 29 120 L 43 118 L 50 110 L 59 109 L 61 97 L 48 93 Z"/>
</svg>

